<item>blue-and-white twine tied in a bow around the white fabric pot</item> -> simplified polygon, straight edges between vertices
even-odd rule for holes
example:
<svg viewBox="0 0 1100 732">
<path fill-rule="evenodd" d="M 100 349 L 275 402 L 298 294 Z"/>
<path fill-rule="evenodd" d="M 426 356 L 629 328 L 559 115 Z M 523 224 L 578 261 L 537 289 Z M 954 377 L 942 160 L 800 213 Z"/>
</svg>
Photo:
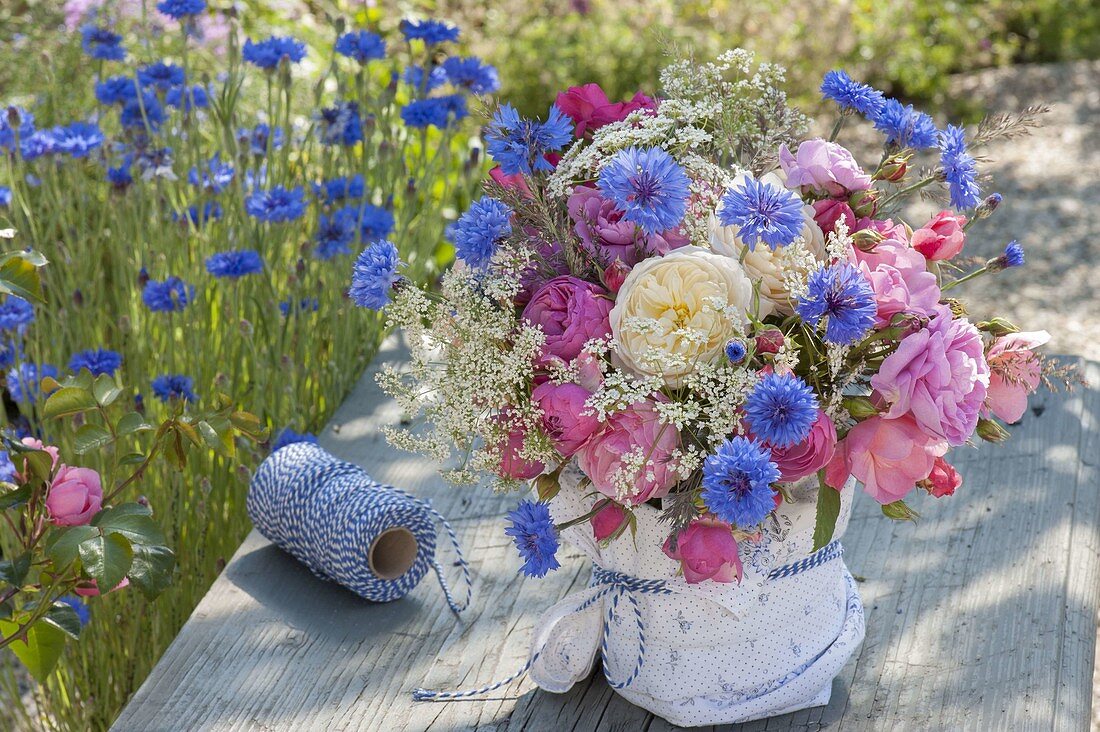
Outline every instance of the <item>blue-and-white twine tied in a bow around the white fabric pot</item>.
<svg viewBox="0 0 1100 732">
<path fill-rule="evenodd" d="M 805 559 L 800 559 L 799 561 L 778 567 L 768 573 L 768 580 L 782 579 L 784 577 L 792 577 L 800 572 L 804 572 L 814 567 L 824 565 L 827 561 L 839 558 L 844 554 L 844 547 L 840 546 L 839 539 L 823 546 L 817 551 L 814 551 Z M 591 587 L 602 587 L 602 589 L 594 596 L 585 600 L 583 603 L 576 607 L 573 612 L 581 612 L 587 610 L 593 604 L 602 600 L 603 598 L 610 596 L 607 602 L 606 611 L 604 612 L 604 626 L 602 633 L 602 641 L 600 644 L 603 657 L 603 670 L 604 678 L 607 679 L 608 686 L 613 689 L 625 689 L 626 687 L 634 684 L 641 674 L 641 667 L 646 663 L 646 624 L 641 621 L 641 608 L 638 604 L 638 594 L 671 594 L 672 589 L 669 587 L 668 582 L 660 579 L 640 579 L 638 577 L 631 577 L 629 575 L 624 575 L 623 572 L 613 571 L 609 569 L 604 569 L 603 567 L 594 567 L 592 571 L 592 584 Z M 616 611 L 618 609 L 619 600 L 626 596 L 626 599 L 630 602 L 630 609 L 632 611 L 632 616 L 635 621 L 635 627 L 638 629 L 638 657 L 634 664 L 634 669 L 630 674 L 623 680 L 616 681 L 612 678 L 610 670 L 607 668 L 607 637 L 610 634 L 612 623 L 615 621 Z M 501 687 L 508 686 L 516 679 L 520 678 L 530 670 L 531 665 L 539 659 L 539 653 L 536 652 L 530 659 L 524 664 L 524 667 L 518 671 L 513 674 L 506 679 L 501 681 L 495 681 L 488 686 L 483 686 L 480 689 L 468 689 L 465 691 L 433 691 L 431 689 L 414 689 L 413 699 L 415 701 L 449 701 L 451 699 L 468 699 L 470 697 L 481 697 L 490 691 L 495 691 Z"/>
</svg>

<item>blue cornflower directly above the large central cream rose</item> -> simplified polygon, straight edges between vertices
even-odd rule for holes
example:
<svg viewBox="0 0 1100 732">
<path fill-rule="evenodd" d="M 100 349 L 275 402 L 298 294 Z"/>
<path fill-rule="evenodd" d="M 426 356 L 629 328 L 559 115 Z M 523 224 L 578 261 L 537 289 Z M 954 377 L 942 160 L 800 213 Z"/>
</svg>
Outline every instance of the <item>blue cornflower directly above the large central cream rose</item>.
<svg viewBox="0 0 1100 732">
<path fill-rule="evenodd" d="M 624 220 L 646 233 L 680 226 L 688 210 L 688 174 L 660 148 L 619 151 L 601 168 L 597 184 Z"/>
</svg>

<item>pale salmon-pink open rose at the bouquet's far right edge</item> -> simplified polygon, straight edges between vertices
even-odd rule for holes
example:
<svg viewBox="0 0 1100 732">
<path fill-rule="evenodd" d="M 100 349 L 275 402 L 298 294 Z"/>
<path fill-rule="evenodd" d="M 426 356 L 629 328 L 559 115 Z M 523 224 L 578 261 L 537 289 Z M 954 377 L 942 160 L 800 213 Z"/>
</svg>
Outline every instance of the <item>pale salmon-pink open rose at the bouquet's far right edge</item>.
<svg viewBox="0 0 1100 732">
<path fill-rule="evenodd" d="M 983 412 L 1012 424 L 1027 409 L 1027 395 L 1038 386 L 1042 367 L 1032 349 L 1050 340 L 1045 330 L 1013 332 L 993 341 L 986 353 L 989 390 Z"/>
</svg>

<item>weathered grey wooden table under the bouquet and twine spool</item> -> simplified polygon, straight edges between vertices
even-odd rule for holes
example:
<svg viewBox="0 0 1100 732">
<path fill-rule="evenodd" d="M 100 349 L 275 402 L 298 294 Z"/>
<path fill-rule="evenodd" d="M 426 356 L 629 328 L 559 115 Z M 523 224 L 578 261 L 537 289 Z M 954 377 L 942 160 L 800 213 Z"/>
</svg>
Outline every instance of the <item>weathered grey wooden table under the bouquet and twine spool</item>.
<svg viewBox="0 0 1100 732">
<path fill-rule="evenodd" d="M 399 358 L 393 347 L 380 358 Z M 1100 368 L 1088 365 L 1092 384 Z M 569 693 L 522 680 L 490 700 L 414 702 L 410 691 L 505 678 L 539 613 L 587 581 L 566 555 L 525 580 L 503 533 L 515 495 L 459 491 L 391 449 L 398 418 L 367 374 L 322 436 L 382 481 L 430 498 L 475 573 L 461 619 L 429 576 L 372 604 L 316 579 L 253 533 L 119 718 L 156 730 L 661 730 L 596 673 Z M 1040 394 L 1009 447 L 960 449 L 957 495 L 892 523 L 857 501 L 845 559 L 860 578 L 867 640 L 827 707 L 746 730 L 1011 729 L 1089 724 L 1100 599 L 1100 391 Z M 866 496 L 865 496 L 866 499 Z"/>
</svg>

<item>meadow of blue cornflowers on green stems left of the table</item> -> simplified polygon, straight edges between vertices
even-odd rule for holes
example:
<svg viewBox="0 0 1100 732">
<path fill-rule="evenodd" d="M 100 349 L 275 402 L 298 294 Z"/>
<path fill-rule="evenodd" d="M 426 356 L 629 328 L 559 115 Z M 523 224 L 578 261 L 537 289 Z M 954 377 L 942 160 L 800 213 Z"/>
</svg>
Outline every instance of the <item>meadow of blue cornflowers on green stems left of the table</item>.
<svg viewBox="0 0 1100 732">
<path fill-rule="evenodd" d="M 42 303 L 0 302 L 4 445 L 41 439 L 106 476 L 114 443 L 81 443 L 98 417 L 43 413 L 52 390 L 90 390 L 101 374 L 127 384 L 114 398 L 142 424 L 190 425 L 208 408 L 256 423 L 196 434 L 186 463 L 142 473 L 128 499 L 175 553 L 170 583 L 155 602 L 124 587 L 58 600 L 79 640 L 55 667 L 32 666 L 35 709 L 0 665 L 0 726 L 109 726 L 248 532 L 250 467 L 273 445 L 316 439 L 375 353 L 384 324 L 348 297 L 355 256 L 391 248 L 403 277 L 430 281 L 451 258 L 444 219 L 482 173 L 469 110 L 498 80 L 455 55 L 457 28 L 405 21 L 383 37 L 338 23 L 318 53 L 231 26 L 216 58 L 195 32 L 205 2 L 148 12 L 168 35 L 129 37 L 103 11 L 74 34 L 95 98 L 78 118 L 54 117 L 84 94 L 61 88 L 0 110 L 0 229 L 48 261 L 35 270 Z M 42 511 L 44 528 L 57 523 Z M 16 523 L 0 524 L 4 560 L 24 548 Z M 0 618 L 37 591 L 10 579 Z"/>
</svg>

